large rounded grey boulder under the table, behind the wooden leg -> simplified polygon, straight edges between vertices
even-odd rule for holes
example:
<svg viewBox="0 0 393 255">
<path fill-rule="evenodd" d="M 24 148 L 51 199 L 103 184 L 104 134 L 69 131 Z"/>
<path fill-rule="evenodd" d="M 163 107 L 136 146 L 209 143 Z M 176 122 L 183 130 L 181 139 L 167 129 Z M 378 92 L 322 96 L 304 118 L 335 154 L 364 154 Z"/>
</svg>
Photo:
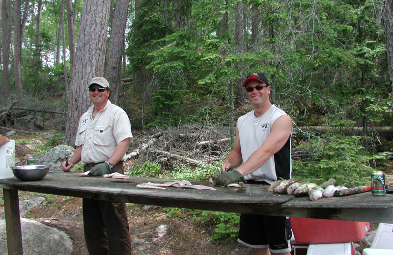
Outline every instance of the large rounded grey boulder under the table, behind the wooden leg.
<svg viewBox="0 0 393 255">
<path fill-rule="evenodd" d="M 72 242 L 64 232 L 42 223 L 21 218 L 24 255 L 69 255 Z M 0 221 L 0 254 L 7 254 L 5 220 Z"/>
</svg>

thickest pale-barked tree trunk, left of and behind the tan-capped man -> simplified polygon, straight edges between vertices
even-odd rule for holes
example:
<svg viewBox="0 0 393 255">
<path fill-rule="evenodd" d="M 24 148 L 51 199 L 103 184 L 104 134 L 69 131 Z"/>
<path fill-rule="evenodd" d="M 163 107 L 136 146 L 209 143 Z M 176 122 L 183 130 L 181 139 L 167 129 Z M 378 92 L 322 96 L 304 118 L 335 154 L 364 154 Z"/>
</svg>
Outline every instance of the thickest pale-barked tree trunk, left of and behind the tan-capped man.
<svg viewBox="0 0 393 255">
<path fill-rule="evenodd" d="M 75 144 L 78 120 L 91 104 L 87 90 L 88 82 L 91 78 L 102 77 L 104 74 L 110 6 L 110 0 L 84 1 L 75 65 L 71 72 L 64 136 L 64 140 L 70 146 Z"/>
</svg>

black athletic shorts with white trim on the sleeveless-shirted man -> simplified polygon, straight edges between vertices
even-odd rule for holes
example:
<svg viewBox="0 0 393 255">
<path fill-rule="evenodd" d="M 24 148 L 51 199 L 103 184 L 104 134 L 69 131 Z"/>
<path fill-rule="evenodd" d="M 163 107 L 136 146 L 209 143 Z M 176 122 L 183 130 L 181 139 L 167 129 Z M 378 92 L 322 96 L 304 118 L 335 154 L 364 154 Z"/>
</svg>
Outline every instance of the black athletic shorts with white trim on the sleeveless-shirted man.
<svg viewBox="0 0 393 255">
<path fill-rule="evenodd" d="M 238 242 L 251 248 L 270 248 L 271 253 L 291 251 L 289 218 L 257 214 L 240 215 Z"/>
</svg>

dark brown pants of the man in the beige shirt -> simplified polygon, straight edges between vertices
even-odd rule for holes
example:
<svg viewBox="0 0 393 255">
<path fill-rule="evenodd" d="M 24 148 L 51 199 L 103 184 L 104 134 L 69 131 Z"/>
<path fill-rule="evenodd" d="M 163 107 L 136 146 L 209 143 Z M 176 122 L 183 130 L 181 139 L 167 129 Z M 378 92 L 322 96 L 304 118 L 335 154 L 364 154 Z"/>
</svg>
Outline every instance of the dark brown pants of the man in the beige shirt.
<svg viewBox="0 0 393 255">
<path fill-rule="evenodd" d="M 84 172 L 90 168 L 86 164 Z M 110 173 L 113 172 L 124 174 L 122 161 L 114 165 Z M 125 203 L 85 198 L 82 203 L 84 239 L 89 255 L 131 255 Z"/>
</svg>

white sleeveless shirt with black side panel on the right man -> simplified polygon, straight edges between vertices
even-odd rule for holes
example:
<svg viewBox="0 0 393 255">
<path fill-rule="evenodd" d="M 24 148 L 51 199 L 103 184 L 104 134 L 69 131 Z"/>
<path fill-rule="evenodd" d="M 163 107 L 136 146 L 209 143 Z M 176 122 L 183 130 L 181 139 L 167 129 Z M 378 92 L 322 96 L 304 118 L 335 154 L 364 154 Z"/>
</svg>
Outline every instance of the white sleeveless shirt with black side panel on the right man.
<svg viewBox="0 0 393 255">
<path fill-rule="evenodd" d="M 282 115 L 288 114 L 273 104 L 258 118 L 255 117 L 253 110 L 238 119 L 237 128 L 243 162 L 246 162 L 251 154 L 262 146 L 263 141 L 270 133 L 274 121 Z M 271 184 L 280 177 L 289 179 L 291 174 L 291 136 L 289 136 L 288 141 L 279 152 L 272 155 L 265 164 L 253 173 L 246 175 L 245 179 L 266 181 Z"/>
</svg>

